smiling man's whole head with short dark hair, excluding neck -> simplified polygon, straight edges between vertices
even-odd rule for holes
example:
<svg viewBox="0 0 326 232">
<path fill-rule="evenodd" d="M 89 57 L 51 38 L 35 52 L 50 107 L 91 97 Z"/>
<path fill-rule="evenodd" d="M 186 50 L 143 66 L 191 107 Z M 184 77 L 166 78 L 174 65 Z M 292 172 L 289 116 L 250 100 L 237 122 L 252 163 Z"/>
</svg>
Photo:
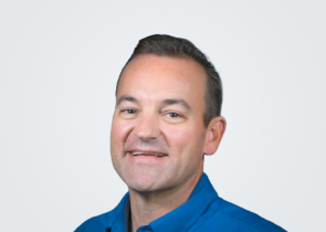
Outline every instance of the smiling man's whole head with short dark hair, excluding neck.
<svg viewBox="0 0 326 232">
<path fill-rule="evenodd" d="M 138 44 L 124 67 L 112 125 L 113 165 L 129 189 L 141 192 L 178 189 L 198 180 L 203 155 L 217 150 L 225 128 L 220 116 L 221 84 L 213 66 L 209 63 L 219 93 L 210 95 L 219 106 L 214 104 L 214 113 L 207 116 L 212 84 L 198 62 L 204 55 L 193 52 L 186 40 L 160 38 L 139 42 L 150 43 L 160 53 L 145 52 L 148 46 Z"/>
</svg>

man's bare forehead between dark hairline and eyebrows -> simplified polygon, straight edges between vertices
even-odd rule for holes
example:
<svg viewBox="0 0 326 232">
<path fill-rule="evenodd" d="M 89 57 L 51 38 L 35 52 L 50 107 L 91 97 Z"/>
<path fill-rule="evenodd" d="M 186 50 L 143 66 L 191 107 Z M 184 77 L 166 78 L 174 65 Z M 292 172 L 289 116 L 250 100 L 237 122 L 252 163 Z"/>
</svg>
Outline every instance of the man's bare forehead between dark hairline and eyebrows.
<svg viewBox="0 0 326 232">
<path fill-rule="evenodd" d="M 144 99 L 183 98 L 203 103 L 206 72 L 191 59 L 138 55 L 124 70 L 117 98 L 123 95 Z"/>
</svg>

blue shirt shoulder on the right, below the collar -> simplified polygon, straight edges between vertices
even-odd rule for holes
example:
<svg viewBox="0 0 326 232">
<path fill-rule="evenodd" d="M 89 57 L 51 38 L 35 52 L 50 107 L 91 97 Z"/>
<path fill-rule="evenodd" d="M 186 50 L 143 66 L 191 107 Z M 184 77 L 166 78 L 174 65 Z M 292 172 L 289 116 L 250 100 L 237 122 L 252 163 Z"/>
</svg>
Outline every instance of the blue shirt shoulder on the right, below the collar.
<svg viewBox="0 0 326 232">
<path fill-rule="evenodd" d="M 284 232 L 285 230 L 236 204 L 218 198 L 199 220 L 206 231 Z"/>
</svg>

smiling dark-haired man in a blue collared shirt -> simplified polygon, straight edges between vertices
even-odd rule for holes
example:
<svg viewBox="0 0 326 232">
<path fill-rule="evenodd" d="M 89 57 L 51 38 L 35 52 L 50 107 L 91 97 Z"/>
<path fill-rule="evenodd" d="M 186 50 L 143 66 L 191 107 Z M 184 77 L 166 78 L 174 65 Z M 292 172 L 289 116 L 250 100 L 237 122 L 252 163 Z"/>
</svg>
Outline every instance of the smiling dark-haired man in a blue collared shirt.
<svg viewBox="0 0 326 232">
<path fill-rule="evenodd" d="M 191 42 L 140 40 L 117 83 L 111 134 L 129 191 L 76 232 L 284 231 L 219 198 L 203 173 L 225 130 L 221 105 L 219 74 Z"/>
</svg>

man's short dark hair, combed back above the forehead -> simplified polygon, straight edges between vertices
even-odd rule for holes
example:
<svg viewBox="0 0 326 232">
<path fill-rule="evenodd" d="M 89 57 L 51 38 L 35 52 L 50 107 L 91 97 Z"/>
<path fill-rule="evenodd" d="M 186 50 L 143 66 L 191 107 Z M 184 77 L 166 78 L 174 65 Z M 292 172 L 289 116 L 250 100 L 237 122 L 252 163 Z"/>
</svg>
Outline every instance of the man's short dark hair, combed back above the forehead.
<svg viewBox="0 0 326 232">
<path fill-rule="evenodd" d="M 207 128 L 213 117 L 221 115 L 223 88 L 222 81 L 214 65 L 209 61 L 193 43 L 186 39 L 175 38 L 167 34 L 154 34 L 141 39 L 135 48 L 132 56 L 125 64 L 116 85 L 116 94 L 119 80 L 127 64 L 138 55 L 155 54 L 158 56 L 170 56 L 181 59 L 192 59 L 198 62 L 207 74 L 207 87 L 204 95 L 203 125 Z"/>
</svg>

